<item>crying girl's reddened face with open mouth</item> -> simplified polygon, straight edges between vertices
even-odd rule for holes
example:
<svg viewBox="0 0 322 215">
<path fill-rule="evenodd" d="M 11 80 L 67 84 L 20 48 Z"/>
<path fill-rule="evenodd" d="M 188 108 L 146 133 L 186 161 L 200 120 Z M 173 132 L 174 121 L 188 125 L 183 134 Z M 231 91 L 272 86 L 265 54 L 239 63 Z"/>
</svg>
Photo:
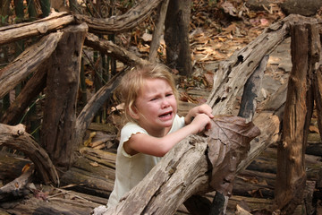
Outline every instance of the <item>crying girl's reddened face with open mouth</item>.
<svg viewBox="0 0 322 215">
<path fill-rule="evenodd" d="M 135 101 L 134 119 L 150 135 L 164 136 L 173 125 L 177 102 L 171 86 L 163 79 L 147 79 Z"/>
</svg>

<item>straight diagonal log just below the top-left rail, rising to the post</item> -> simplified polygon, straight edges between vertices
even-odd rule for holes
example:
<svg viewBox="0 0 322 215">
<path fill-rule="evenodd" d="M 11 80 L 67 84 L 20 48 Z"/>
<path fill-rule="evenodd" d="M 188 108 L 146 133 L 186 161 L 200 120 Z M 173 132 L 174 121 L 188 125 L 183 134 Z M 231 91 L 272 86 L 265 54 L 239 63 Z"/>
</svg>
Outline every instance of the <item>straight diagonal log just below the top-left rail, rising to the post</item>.
<svg viewBox="0 0 322 215">
<path fill-rule="evenodd" d="M 41 64 L 45 64 L 62 35 L 62 32 L 57 32 L 40 39 L 37 44 L 22 52 L 13 63 L 0 70 L 0 98 L 25 80 L 30 73 L 37 71 Z"/>
</svg>

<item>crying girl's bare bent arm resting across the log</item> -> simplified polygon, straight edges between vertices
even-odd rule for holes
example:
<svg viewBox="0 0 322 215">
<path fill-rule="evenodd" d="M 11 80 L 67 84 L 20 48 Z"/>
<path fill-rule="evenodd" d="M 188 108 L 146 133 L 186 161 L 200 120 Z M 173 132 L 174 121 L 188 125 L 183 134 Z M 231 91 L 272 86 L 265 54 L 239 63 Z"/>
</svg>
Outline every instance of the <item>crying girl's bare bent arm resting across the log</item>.
<svg viewBox="0 0 322 215">
<path fill-rule="evenodd" d="M 145 133 L 133 134 L 128 142 L 123 143 L 123 148 L 130 155 L 135 155 L 140 152 L 162 157 L 176 143 L 181 142 L 190 134 L 201 132 L 205 129 L 206 125 L 210 125 L 209 116 L 199 114 L 195 116 L 191 124 L 182 127 L 174 133 L 168 133 L 164 137 L 153 137 Z"/>
</svg>

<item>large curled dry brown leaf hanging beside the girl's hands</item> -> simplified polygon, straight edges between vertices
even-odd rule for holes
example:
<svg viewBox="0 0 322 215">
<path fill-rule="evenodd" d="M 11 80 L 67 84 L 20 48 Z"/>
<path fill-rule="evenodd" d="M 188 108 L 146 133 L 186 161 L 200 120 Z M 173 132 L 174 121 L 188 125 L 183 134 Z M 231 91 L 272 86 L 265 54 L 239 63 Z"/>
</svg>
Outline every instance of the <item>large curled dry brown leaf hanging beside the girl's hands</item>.
<svg viewBox="0 0 322 215">
<path fill-rule="evenodd" d="M 247 156 L 250 141 L 260 133 L 257 126 L 239 116 L 215 116 L 208 135 L 208 158 L 213 166 L 210 185 L 229 195 L 237 166 Z"/>
</svg>

